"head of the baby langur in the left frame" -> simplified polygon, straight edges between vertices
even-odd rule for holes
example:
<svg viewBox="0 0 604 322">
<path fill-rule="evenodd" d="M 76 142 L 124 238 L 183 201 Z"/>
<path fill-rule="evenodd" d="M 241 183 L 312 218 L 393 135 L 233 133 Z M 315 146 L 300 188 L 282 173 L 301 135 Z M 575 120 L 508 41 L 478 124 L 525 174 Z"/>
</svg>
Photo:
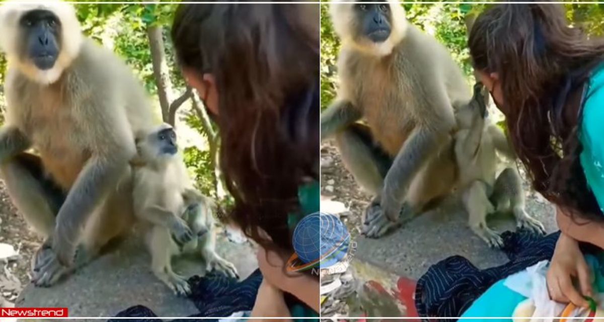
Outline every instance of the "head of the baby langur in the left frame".
<svg viewBox="0 0 604 322">
<path fill-rule="evenodd" d="M 149 132 L 142 132 L 136 137 L 137 153 L 144 163 L 168 163 L 178 153 L 176 132 L 170 124 L 161 126 Z"/>
</svg>

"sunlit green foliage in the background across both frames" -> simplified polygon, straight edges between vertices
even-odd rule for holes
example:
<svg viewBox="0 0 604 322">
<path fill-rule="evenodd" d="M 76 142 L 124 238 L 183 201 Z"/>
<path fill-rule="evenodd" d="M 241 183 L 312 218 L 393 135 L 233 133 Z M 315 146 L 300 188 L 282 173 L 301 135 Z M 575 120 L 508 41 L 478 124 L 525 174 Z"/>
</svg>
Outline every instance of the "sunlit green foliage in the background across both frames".
<svg viewBox="0 0 604 322">
<path fill-rule="evenodd" d="M 0 0 L 0 2 L 2 2 Z M 484 5 L 470 4 L 422 4 L 403 2 L 406 16 L 412 24 L 434 35 L 451 51 L 454 59 L 462 66 L 472 82 L 469 53 L 466 48 L 465 20 L 471 14 L 483 10 Z M 604 4 L 581 4 L 575 1 L 566 4 L 571 24 L 585 28 L 594 35 L 603 33 L 602 19 Z M 205 109 L 200 108 L 199 100 L 187 94 L 187 88 L 173 59 L 172 42 L 169 37 L 170 24 L 175 12 L 175 4 L 76 4 L 78 18 L 86 35 L 115 51 L 132 66 L 145 88 L 155 98 L 154 111 L 162 115 L 159 97 L 161 94 L 176 101 L 181 95 L 187 100 L 176 115 L 176 126 L 181 142 L 184 141 L 185 162 L 202 192 L 213 195 L 222 202 L 229 202 L 223 191 L 221 176 L 217 170 L 216 148 L 219 140 L 216 127 L 207 120 Z M 162 57 L 155 57 L 156 63 L 165 68 L 158 70 L 154 66 L 151 48 L 158 45 L 150 32 L 159 28 L 161 34 Z M 337 87 L 336 57 L 339 50 L 338 37 L 333 32 L 327 4 L 321 4 L 321 103 L 322 107 L 333 100 Z M 157 47 L 155 47 L 157 48 Z M 159 66 L 158 65 L 158 66 Z M 7 62 L 0 54 L 0 121 L 4 115 L 4 84 Z M 161 68 L 159 68 L 161 69 Z M 163 74 L 162 74 L 163 73 Z M 164 75 L 165 74 L 165 75 Z M 165 79 L 158 78 L 164 75 Z M 168 103 L 170 103 L 170 101 Z M 213 150 L 214 149 L 214 150 Z"/>
</svg>

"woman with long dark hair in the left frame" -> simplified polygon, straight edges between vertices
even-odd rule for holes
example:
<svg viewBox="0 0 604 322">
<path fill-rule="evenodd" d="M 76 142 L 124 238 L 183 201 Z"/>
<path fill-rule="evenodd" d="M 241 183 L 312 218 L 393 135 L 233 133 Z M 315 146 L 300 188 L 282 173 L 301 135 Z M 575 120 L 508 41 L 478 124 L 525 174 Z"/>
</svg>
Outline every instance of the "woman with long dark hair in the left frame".
<svg viewBox="0 0 604 322">
<path fill-rule="evenodd" d="M 285 268 L 295 224 L 319 209 L 318 26 L 317 4 L 182 4 L 172 28 L 185 79 L 220 130 L 227 219 L 259 245 L 255 317 L 319 311 L 318 275 Z M 291 295 L 311 310 L 295 312 Z"/>
</svg>

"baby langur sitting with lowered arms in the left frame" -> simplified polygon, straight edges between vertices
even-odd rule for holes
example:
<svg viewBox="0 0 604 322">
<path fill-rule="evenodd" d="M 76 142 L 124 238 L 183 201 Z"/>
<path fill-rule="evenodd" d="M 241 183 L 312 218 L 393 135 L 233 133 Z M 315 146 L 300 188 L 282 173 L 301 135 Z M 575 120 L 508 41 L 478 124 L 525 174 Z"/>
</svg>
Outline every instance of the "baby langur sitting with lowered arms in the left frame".
<svg viewBox="0 0 604 322">
<path fill-rule="evenodd" d="M 206 271 L 238 277 L 237 269 L 216 254 L 216 232 L 210 198 L 201 195 L 188 176 L 169 124 L 137 135 L 133 159 L 135 216 L 143 219 L 153 273 L 178 295 L 188 295 L 187 279 L 172 270 L 172 257 L 199 253 Z"/>
</svg>

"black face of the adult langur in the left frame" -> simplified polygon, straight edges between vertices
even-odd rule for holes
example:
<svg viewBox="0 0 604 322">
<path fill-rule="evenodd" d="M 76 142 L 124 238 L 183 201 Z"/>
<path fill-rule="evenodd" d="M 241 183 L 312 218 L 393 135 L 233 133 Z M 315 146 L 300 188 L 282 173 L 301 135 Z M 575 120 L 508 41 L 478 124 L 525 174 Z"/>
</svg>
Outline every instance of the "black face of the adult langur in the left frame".
<svg viewBox="0 0 604 322">
<path fill-rule="evenodd" d="M 24 55 L 41 70 L 53 68 L 61 49 L 59 18 L 48 10 L 31 10 L 21 17 L 19 25 Z"/>
</svg>

